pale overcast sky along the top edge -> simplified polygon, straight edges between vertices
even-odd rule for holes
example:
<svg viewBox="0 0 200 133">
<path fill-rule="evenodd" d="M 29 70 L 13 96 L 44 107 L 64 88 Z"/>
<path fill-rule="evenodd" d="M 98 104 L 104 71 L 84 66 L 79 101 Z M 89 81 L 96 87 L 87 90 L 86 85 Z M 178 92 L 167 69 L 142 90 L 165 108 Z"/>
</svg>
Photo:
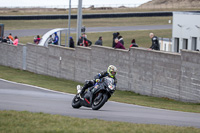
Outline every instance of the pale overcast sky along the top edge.
<svg viewBox="0 0 200 133">
<path fill-rule="evenodd" d="M 72 7 L 78 5 L 79 0 L 71 0 Z M 151 0 L 83 0 L 83 6 L 138 6 Z M 0 7 L 68 7 L 69 0 L 0 0 Z"/>
</svg>

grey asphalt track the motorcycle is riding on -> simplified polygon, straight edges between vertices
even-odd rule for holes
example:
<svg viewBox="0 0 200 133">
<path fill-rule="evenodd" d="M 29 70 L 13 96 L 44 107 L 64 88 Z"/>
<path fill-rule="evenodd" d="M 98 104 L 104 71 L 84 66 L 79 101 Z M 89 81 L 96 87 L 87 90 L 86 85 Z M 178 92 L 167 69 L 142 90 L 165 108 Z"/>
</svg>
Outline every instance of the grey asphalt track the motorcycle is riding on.
<svg viewBox="0 0 200 133">
<path fill-rule="evenodd" d="M 74 109 L 74 95 L 0 79 L 0 110 L 44 112 L 79 118 L 200 128 L 200 113 L 188 113 L 108 101 L 100 110 Z"/>
</svg>

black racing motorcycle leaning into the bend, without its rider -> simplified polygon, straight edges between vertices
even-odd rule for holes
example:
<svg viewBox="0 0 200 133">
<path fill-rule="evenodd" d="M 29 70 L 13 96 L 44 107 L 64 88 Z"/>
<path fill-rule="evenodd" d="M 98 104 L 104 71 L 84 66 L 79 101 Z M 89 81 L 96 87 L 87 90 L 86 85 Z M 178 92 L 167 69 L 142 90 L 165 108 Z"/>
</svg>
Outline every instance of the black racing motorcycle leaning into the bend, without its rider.
<svg viewBox="0 0 200 133">
<path fill-rule="evenodd" d="M 85 106 L 92 108 L 93 110 L 98 110 L 115 92 L 116 85 L 114 84 L 113 78 L 104 77 L 100 82 L 88 88 L 82 98 L 79 95 L 81 88 L 82 87 L 80 85 L 77 86 L 77 94 L 72 100 L 72 107 L 80 108 L 81 106 Z"/>
</svg>

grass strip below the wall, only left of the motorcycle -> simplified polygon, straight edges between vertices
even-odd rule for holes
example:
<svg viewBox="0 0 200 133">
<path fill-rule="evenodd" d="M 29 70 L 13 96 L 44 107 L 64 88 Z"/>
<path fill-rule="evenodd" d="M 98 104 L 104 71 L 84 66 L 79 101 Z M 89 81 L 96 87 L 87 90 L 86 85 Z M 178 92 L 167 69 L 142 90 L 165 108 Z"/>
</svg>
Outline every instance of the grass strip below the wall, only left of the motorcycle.
<svg viewBox="0 0 200 133">
<path fill-rule="evenodd" d="M 0 78 L 68 93 L 76 93 L 76 86 L 80 84 L 70 80 L 39 75 L 4 66 L 0 66 Z"/>
</svg>

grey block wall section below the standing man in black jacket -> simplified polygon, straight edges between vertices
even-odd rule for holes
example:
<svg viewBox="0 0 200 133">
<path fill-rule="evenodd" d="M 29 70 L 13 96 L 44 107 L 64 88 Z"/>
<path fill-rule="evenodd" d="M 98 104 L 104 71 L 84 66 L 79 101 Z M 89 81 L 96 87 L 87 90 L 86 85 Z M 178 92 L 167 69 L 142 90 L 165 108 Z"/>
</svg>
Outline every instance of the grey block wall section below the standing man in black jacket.
<svg viewBox="0 0 200 133">
<path fill-rule="evenodd" d="M 180 54 L 132 49 L 130 88 L 143 95 L 179 100 L 180 59 Z"/>
</svg>

